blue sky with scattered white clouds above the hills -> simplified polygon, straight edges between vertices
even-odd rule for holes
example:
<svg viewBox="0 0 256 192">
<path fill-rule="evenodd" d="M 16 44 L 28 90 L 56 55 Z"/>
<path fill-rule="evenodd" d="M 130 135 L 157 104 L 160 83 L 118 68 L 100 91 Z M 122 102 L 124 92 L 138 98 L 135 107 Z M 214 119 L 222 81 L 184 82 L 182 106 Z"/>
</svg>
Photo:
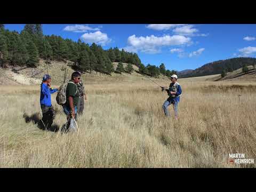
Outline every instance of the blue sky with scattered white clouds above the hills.
<svg viewBox="0 0 256 192">
<path fill-rule="evenodd" d="M 5 24 L 21 31 L 24 25 Z M 231 24 L 43 24 L 45 35 L 60 35 L 91 44 L 136 52 L 142 63 L 166 69 L 196 69 L 234 57 L 256 56 L 256 25 Z"/>
</svg>

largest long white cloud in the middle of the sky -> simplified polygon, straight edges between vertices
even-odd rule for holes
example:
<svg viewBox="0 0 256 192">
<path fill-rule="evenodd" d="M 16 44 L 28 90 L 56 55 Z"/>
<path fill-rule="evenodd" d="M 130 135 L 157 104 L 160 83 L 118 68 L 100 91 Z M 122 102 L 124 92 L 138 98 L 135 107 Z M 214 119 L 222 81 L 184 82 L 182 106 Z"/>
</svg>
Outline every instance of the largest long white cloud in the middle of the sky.
<svg viewBox="0 0 256 192">
<path fill-rule="evenodd" d="M 128 37 L 128 46 L 124 49 L 129 49 L 138 52 L 145 53 L 159 53 L 161 52 L 162 46 L 172 46 L 172 45 L 184 45 L 190 43 L 191 39 L 182 35 L 164 35 L 157 37 L 154 35 L 146 37 L 136 37 L 132 35 Z"/>
</svg>

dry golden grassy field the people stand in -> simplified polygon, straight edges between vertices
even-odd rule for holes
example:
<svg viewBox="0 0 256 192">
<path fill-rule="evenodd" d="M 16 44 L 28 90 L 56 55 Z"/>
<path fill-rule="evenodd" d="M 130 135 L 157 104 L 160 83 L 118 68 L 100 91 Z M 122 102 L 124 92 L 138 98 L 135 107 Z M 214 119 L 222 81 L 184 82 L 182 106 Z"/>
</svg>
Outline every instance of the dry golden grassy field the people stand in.
<svg viewBox="0 0 256 192">
<path fill-rule="evenodd" d="M 145 77 L 85 78 L 89 100 L 80 131 L 67 134 L 34 123 L 42 117 L 38 85 L 2 85 L 0 167 L 255 167 L 230 164 L 228 154 L 256 160 L 256 83 L 179 82 L 175 121 L 171 107 L 170 118 L 163 114 L 166 92 Z M 58 130 L 66 116 L 56 94 Z"/>
</svg>

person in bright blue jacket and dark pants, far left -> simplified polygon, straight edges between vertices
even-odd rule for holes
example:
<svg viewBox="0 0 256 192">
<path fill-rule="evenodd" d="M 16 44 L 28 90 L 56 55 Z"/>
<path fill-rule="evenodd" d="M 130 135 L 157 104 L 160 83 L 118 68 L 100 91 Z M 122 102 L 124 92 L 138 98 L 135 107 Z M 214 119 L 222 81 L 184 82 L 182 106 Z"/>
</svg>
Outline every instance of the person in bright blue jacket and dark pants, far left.
<svg viewBox="0 0 256 192">
<path fill-rule="evenodd" d="M 51 89 L 51 76 L 46 74 L 43 76 L 41 84 L 40 105 L 42 109 L 43 118 L 39 122 L 39 126 L 45 129 L 51 127 L 55 117 L 55 111 L 52 107 L 51 94 L 58 91 L 58 89 Z"/>
</svg>

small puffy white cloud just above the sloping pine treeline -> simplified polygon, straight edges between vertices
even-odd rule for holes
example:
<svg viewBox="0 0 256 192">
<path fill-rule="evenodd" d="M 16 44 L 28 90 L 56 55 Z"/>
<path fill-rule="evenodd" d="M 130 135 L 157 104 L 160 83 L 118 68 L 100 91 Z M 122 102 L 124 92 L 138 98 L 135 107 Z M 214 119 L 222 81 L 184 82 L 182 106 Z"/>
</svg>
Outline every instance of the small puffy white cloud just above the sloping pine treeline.
<svg viewBox="0 0 256 192">
<path fill-rule="evenodd" d="M 111 42 L 111 39 L 108 38 L 108 35 L 101 33 L 101 31 L 95 31 L 94 33 L 85 33 L 81 36 L 85 43 L 97 43 L 102 46 L 105 46 L 107 43 Z"/>
</svg>

